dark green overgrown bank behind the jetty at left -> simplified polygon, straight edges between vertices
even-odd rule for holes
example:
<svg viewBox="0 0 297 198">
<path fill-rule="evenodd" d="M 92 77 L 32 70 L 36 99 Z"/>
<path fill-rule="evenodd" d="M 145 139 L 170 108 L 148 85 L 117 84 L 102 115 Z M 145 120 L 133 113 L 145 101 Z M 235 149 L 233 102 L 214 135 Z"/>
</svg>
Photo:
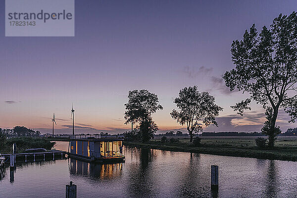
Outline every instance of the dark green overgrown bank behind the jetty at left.
<svg viewBox="0 0 297 198">
<path fill-rule="evenodd" d="M 46 148 L 51 149 L 55 142 L 45 138 L 32 138 L 32 137 L 19 137 L 9 138 L 5 140 L 5 143 L 0 148 L 0 153 L 12 153 L 12 144 L 16 143 L 17 153 L 24 152 L 25 149 L 29 148 Z"/>
</svg>

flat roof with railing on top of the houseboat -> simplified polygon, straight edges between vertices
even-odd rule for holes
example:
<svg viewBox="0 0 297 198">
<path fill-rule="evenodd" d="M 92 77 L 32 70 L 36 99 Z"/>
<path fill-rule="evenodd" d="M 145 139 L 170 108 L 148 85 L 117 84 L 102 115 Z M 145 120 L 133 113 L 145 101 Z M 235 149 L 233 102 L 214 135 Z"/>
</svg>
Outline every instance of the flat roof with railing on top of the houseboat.
<svg viewBox="0 0 297 198">
<path fill-rule="evenodd" d="M 112 142 L 112 141 L 124 141 L 124 137 L 114 135 L 114 136 L 101 136 L 98 134 L 94 135 L 71 135 L 70 140 L 80 140 L 80 141 L 100 141 L 100 142 Z"/>
</svg>

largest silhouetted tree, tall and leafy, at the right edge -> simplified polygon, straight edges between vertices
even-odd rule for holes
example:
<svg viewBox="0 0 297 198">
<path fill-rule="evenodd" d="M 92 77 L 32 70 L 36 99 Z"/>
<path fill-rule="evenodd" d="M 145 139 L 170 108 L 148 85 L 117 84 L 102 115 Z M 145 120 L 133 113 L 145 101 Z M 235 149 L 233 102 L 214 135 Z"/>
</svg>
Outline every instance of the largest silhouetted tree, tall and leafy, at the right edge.
<svg viewBox="0 0 297 198">
<path fill-rule="evenodd" d="M 238 114 L 250 109 L 251 100 L 267 109 L 269 118 L 262 128 L 269 136 L 269 147 L 274 146 L 279 108 L 284 108 L 291 116 L 289 122 L 297 119 L 297 14 L 280 14 L 270 25 L 257 33 L 255 25 L 241 41 L 233 41 L 232 61 L 236 65 L 224 75 L 230 91 L 238 89 L 248 93 L 250 98 L 231 106 Z"/>
</svg>

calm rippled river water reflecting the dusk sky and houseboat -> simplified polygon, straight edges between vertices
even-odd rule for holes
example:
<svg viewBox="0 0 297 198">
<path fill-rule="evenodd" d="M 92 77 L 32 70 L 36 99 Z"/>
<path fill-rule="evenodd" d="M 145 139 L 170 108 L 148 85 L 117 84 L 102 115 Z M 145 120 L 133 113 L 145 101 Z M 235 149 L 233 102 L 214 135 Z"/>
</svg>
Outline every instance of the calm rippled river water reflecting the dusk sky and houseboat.
<svg viewBox="0 0 297 198">
<path fill-rule="evenodd" d="M 67 149 L 58 143 L 57 149 Z M 0 177 L 0 198 L 295 198 L 297 162 L 124 148 L 125 163 L 73 159 L 19 163 Z M 219 190 L 210 190 L 210 165 L 219 166 Z M 14 181 L 12 182 L 13 179 Z M 11 180 L 11 181 L 10 181 Z"/>
</svg>

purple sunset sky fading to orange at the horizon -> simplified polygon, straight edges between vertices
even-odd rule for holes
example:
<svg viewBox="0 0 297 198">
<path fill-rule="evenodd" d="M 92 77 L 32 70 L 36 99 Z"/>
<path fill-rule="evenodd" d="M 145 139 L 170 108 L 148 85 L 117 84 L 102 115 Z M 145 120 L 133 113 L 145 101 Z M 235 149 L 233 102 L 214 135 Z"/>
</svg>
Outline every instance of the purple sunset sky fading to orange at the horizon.
<svg viewBox="0 0 297 198">
<path fill-rule="evenodd" d="M 154 114 L 160 132 L 183 128 L 169 115 L 180 89 L 209 91 L 224 111 L 219 127 L 204 131 L 260 131 L 265 120 L 253 104 L 243 117 L 230 105 L 245 99 L 221 78 L 234 67 L 231 43 L 253 23 L 269 26 L 296 11 L 296 0 L 75 0 L 75 37 L 5 37 L 0 0 L 0 128 L 16 125 L 71 133 L 123 132 L 129 90 L 148 89 L 164 107 Z M 57 30 L 58 31 L 58 30 Z M 296 124 L 281 111 L 283 132 Z M 183 130 L 185 131 L 185 130 Z"/>
</svg>

